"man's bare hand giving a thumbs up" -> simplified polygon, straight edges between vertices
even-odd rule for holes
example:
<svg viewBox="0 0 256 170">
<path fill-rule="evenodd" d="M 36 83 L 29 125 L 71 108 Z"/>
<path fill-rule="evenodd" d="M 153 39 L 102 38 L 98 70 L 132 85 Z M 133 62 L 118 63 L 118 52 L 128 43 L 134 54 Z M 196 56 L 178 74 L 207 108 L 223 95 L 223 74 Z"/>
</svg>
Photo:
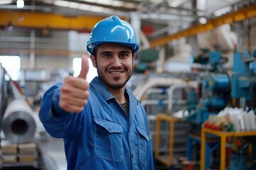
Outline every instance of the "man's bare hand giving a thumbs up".
<svg viewBox="0 0 256 170">
<path fill-rule="evenodd" d="M 89 97 L 89 84 L 86 76 L 89 70 L 87 57 L 82 57 L 81 71 L 78 77 L 65 77 L 64 84 L 60 89 L 59 106 L 64 111 L 80 113 Z"/>
</svg>

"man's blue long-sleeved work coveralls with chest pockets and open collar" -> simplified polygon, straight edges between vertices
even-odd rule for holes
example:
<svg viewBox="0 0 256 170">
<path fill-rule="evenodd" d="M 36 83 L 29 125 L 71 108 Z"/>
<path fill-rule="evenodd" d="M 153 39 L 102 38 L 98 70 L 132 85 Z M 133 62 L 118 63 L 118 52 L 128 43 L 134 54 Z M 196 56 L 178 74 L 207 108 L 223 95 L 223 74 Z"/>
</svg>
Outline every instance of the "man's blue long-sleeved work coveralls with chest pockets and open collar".
<svg viewBox="0 0 256 170">
<path fill-rule="evenodd" d="M 57 83 L 43 96 L 39 117 L 46 131 L 62 137 L 68 169 L 154 169 L 149 123 L 131 91 L 129 117 L 98 77 L 90 83 L 90 97 L 81 113 L 58 106 Z"/>
</svg>

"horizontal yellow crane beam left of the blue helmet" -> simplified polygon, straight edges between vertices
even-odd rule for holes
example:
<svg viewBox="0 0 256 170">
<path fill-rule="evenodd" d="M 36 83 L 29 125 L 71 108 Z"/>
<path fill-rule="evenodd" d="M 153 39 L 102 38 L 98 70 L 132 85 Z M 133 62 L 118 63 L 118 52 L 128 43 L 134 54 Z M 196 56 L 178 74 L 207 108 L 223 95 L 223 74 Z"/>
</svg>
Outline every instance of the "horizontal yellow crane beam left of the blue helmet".
<svg viewBox="0 0 256 170">
<path fill-rule="evenodd" d="M 91 30 L 104 16 L 63 16 L 55 13 L 0 11 L 0 27 L 56 30 Z"/>
</svg>

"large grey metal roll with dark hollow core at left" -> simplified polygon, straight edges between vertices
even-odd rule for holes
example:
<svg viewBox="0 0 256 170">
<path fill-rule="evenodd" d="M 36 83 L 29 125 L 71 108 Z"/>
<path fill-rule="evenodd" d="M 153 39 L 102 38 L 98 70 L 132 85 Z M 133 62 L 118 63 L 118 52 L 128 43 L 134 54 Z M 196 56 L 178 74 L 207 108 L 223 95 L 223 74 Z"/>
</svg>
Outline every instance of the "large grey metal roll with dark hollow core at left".
<svg viewBox="0 0 256 170">
<path fill-rule="evenodd" d="M 11 101 L 4 112 L 2 128 L 6 140 L 14 143 L 33 142 L 36 121 L 32 108 L 23 99 Z"/>
</svg>

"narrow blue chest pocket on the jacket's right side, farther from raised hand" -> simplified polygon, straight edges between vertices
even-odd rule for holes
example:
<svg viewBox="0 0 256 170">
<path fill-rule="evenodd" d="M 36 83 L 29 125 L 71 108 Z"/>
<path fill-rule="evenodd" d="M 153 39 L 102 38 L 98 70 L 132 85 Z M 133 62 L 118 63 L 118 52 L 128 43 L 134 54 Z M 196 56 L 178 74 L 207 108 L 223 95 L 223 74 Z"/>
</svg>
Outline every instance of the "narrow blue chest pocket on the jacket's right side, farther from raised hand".
<svg viewBox="0 0 256 170">
<path fill-rule="evenodd" d="M 149 135 L 146 133 L 146 129 L 137 126 L 138 142 L 139 142 L 139 162 L 142 165 L 146 165 L 146 154 L 148 147 Z"/>
</svg>

